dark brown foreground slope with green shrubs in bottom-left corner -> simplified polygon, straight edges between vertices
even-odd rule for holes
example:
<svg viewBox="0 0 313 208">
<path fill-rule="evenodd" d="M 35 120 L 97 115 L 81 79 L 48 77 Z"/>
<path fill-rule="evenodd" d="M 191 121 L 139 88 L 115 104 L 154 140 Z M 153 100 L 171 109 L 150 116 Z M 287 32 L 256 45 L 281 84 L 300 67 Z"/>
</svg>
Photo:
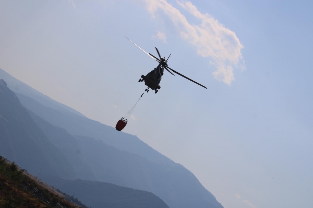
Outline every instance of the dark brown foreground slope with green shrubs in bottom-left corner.
<svg viewBox="0 0 313 208">
<path fill-rule="evenodd" d="M 0 207 L 77 207 L 44 188 L 36 181 L 23 174 L 23 172 L 24 170 L 20 169 L 14 162 L 7 162 L 6 159 L 0 156 Z M 80 206 L 86 208 L 86 206 L 81 203 Z"/>
</svg>

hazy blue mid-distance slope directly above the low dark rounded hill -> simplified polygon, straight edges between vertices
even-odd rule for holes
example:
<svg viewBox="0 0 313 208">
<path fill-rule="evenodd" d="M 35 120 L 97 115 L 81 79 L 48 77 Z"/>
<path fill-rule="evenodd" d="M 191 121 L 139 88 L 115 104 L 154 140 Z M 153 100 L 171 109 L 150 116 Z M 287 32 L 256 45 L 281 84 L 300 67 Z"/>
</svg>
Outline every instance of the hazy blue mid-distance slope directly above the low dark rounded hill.
<svg viewBox="0 0 313 208">
<path fill-rule="evenodd" d="M 100 181 L 150 191 L 172 208 L 223 207 L 192 172 L 180 164 L 151 162 L 100 140 L 76 137 Z"/>
</svg>

